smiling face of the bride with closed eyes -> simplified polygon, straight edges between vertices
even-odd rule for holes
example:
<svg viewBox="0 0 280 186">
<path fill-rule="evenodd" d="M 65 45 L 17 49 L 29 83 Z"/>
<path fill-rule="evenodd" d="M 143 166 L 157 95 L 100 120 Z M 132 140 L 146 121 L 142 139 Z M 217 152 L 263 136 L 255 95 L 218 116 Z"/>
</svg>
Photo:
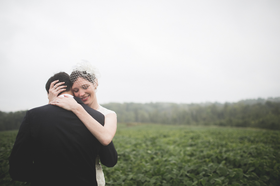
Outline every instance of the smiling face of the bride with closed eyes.
<svg viewBox="0 0 280 186">
<path fill-rule="evenodd" d="M 80 85 L 75 82 L 73 83 L 72 91 L 75 97 L 81 98 L 84 104 L 93 108 L 92 106 L 97 102 L 95 93 L 96 87 L 94 87 L 91 82 L 81 77 L 78 77 L 76 81 L 79 81 Z"/>
</svg>

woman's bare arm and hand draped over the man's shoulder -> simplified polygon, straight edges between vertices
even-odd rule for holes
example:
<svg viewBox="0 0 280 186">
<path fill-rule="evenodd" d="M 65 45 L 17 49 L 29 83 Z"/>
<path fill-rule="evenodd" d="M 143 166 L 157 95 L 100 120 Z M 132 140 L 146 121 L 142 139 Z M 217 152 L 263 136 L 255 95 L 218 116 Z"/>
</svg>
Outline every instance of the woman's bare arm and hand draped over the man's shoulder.
<svg viewBox="0 0 280 186">
<path fill-rule="evenodd" d="M 59 102 L 57 103 L 57 100 Z M 117 116 L 114 113 L 105 116 L 105 124 L 102 126 L 97 122 L 82 105 L 78 104 L 70 97 L 58 96 L 54 101 L 50 102 L 52 105 L 59 106 L 66 110 L 70 110 L 77 115 L 77 117 L 84 123 L 86 128 L 102 145 L 108 145 L 112 141 L 117 130 Z"/>
</svg>

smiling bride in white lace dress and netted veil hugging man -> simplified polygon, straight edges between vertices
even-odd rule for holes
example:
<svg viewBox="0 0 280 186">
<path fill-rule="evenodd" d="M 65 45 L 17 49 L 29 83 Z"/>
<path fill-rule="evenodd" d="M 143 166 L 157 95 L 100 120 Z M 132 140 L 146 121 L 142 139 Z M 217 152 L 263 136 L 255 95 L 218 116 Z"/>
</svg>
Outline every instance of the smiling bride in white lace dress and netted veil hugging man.
<svg viewBox="0 0 280 186">
<path fill-rule="evenodd" d="M 88 61 L 82 60 L 73 66 L 70 80 L 73 83 L 72 89 L 75 97 L 81 98 L 84 104 L 99 111 L 105 116 L 104 126 L 100 125 L 86 110 L 68 95 L 58 96 L 64 91 L 65 86 L 59 80 L 51 83 L 49 88 L 49 104 L 70 110 L 84 123 L 86 128 L 102 145 L 108 145 L 112 141 L 117 130 L 117 115 L 114 111 L 102 107 L 97 102 L 96 91 L 100 78 L 99 70 Z M 57 84 L 56 84 L 57 83 Z M 98 186 L 105 185 L 105 178 L 102 167 L 99 163 L 99 156 L 96 158 L 96 181 Z"/>
</svg>

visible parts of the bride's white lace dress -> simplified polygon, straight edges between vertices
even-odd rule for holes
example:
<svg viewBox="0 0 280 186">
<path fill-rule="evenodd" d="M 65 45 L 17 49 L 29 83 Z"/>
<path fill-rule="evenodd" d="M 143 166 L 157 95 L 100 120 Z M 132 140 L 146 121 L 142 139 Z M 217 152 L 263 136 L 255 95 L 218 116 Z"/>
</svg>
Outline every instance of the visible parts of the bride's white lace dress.
<svg viewBox="0 0 280 186">
<path fill-rule="evenodd" d="M 110 114 L 110 113 L 116 114 L 114 111 L 109 110 L 107 108 L 104 108 L 101 105 L 99 105 L 97 111 L 102 113 L 104 116 L 106 116 L 107 114 Z M 101 164 L 100 164 L 99 160 L 100 160 L 100 157 L 97 156 L 96 161 L 95 161 L 96 181 L 97 181 L 98 186 L 104 186 L 105 185 L 105 178 L 104 178 L 103 170 L 102 170 L 102 167 L 101 167 Z"/>
</svg>

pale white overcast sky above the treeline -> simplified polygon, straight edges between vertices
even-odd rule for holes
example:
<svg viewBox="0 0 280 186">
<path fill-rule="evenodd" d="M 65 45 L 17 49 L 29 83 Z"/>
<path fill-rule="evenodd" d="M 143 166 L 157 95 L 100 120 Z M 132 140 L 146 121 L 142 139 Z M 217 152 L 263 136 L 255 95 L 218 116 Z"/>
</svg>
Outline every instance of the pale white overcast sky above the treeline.
<svg viewBox="0 0 280 186">
<path fill-rule="evenodd" d="M 279 97 L 280 1 L 0 1 L 1 111 L 47 104 L 81 59 L 100 104 Z"/>
</svg>

